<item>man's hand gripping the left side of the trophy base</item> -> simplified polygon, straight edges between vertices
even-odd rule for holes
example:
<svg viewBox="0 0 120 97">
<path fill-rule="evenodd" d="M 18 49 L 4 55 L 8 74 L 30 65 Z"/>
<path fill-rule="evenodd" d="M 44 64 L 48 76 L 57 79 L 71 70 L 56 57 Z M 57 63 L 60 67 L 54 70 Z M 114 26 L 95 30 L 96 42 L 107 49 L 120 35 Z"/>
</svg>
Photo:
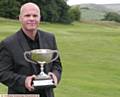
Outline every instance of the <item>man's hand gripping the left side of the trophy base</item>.
<svg viewBox="0 0 120 97">
<path fill-rule="evenodd" d="M 27 76 L 25 79 L 25 87 L 29 90 L 29 91 L 33 91 L 34 87 L 32 86 L 32 81 L 33 79 L 35 79 L 36 76 L 32 75 L 32 76 Z"/>
</svg>

